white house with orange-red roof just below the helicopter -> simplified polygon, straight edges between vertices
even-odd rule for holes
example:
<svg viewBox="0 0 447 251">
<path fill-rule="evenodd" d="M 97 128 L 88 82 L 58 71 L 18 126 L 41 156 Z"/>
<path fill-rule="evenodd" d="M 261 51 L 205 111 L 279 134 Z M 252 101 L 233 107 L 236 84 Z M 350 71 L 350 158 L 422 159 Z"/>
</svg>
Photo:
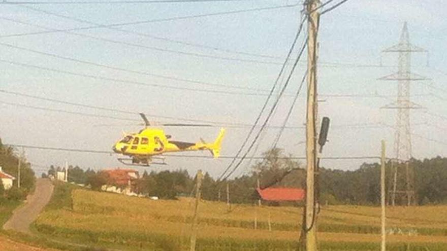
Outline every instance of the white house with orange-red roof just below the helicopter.
<svg viewBox="0 0 447 251">
<path fill-rule="evenodd" d="M 140 175 L 135 169 L 106 169 L 101 173 L 107 179 L 107 184 L 102 187 L 103 191 L 125 194 L 130 196 L 137 196 L 136 181 Z"/>
</svg>

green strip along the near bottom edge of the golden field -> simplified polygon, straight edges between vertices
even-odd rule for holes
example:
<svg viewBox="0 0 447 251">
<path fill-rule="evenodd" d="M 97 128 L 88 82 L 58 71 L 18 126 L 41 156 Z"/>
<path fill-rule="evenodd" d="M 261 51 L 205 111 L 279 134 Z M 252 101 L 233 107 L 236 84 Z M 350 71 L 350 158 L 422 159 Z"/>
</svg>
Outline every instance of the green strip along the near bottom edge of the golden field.
<svg viewBox="0 0 447 251">
<path fill-rule="evenodd" d="M 48 236 L 70 238 L 78 243 L 114 247 L 123 250 L 187 250 L 187 238 L 163 234 L 147 234 L 123 231 L 90 231 L 69 228 L 55 228 L 48 225 L 38 226 L 41 233 Z M 298 242 L 289 240 L 235 240 L 231 238 L 201 238 L 197 240 L 196 250 L 297 250 Z M 387 245 L 388 251 L 444 251 L 445 243 L 392 243 Z M 371 242 L 321 242 L 322 251 L 376 251 L 379 243 Z"/>
</svg>

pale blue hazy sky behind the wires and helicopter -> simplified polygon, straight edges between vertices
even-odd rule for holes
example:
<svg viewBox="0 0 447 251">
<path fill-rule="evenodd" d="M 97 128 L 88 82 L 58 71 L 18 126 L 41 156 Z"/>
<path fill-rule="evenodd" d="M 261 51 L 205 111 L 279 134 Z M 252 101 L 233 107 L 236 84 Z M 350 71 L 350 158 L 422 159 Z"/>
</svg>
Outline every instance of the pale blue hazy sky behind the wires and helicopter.
<svg viewBox="0 0 447 251">
<path fill-rule="evenodd" d="M 282 7 L 263 9 L 276 6 Z M 203 16 L 249 9 L 258 10 Z M 275 83 L 297 32 L 302 9 L 302 1 L 292 0 L 0 4 L 0 137 L 4 144 L 109 151 L 122 131 L 141 129 L 138 112 L 158 122 L 185 123 L 180 119 L 185 118 L 252 124 L 267 96 L 247 93 L 265 94 L 254 89 L 269 90 Z M 411 83 L 411 100 L 424 107 L 411 111 L 412 156 L 422 159 L 447 154 L 444 12 L 440 0 L 350 0 L 322 15 L 318 33 L 318 114 L 331 119 L 323 157 L 378 156 L 381 139 L 387 142 L 387 156 L 394 157 L 396 111 L 380 107 L 396 99 L 397 82 L 378 79 L 397 71 L 398 55 L 381 51 L 398 43 L 405 21 L 410 42 L 427 50 L 411 57 L 412 71 L 428 78 Z M 134 24 L 79 29 L 119 23 Z M 299 37 L 294 59 L 306 32 L 303 30 Z M 306 60 L 304 53 L 270 126 L 282 124 L 305 73 Z M 289 74 L 291 65 L 292 61 L 284 75 Z M 284 84 L 284 77 L 279 83 Z M 277 96 L 275 90 L 272 100 Z M 278 144 L 284 153 L 296 157 L 305 156 L 305 101 L 304 87 L 287 124 L 299 128 L 286 128 Z M 270 101 L 268 110 L 271 105 Z M 218 126 L 164 129 L 176 140 L 193 142 L 200 137 L 212 141 L 219 131 Z M 248 130 L 229 127 L 221 155 L 234 156 Z M 266 129 L 254 145 L 257 151 L 248 156 L 261 156 L 272 146 L 277 133 L 277 128 Z M 66 161 L 95 170 L 123 167 L 117 155 L 37 149 L 25 149 L 25 154 L 38 173 L 50 164 L 63 165 Z M 190 174 L 202 169 L 217 177 L 230 161 L 167 157 L 166 166 L 138 169 L 183 168 Z M 322 165 L 354 170 L 371 161 L 375 160 L 324 160 Z M 248 172 L 249 164 L 253 164 L 248 162 L 235 175 Z M 301 163 L 305 164 L 305 160 Z"/>
</svg>

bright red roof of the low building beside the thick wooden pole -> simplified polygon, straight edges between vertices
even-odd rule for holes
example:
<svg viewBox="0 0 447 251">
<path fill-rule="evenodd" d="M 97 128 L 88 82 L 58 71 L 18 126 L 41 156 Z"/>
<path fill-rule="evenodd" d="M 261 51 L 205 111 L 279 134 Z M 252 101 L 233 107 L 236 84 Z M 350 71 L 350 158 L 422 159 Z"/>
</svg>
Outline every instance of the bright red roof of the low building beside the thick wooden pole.
<svg viewBox="0 0 447 251">
<path fill-rule="evenodd" d="M 256 189 L 263 200 L 269 201 L 298 201 L 304 200 L 306 193 L 300 188 L 266 188 Z"/>
</svg>

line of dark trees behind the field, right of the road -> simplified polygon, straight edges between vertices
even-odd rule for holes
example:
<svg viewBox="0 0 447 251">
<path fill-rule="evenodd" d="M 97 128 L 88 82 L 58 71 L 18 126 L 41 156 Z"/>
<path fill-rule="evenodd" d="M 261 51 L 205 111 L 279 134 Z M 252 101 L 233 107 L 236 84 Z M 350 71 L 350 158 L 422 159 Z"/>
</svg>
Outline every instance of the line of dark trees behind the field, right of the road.
<svg viewBox="0 0 447 251">
<path fill-rule="evenodd" d="M 257 200 L 256 188 L 258 180 L 260 188 L 294 187 L 304 188 L 306 171 L 302 164 L 287 158 L 281 149 L 273 149 L 263 154 L 264 159 L 249 165 L 249 171 L 242 176 L 225 181 L 216 181 L 209 173 L 205 173 L 202 181 L 202 197 L 206 200 L 226 201 L 226 187 L 230 188 L 232 203 L 254 203 Z M 405 189 L 405 167 L 387 163 L 386 182 L 387 200 L 390 199 L 393 182 L 393 169 L 398 167 L 397 190 Z M 410 176 L 414 177 L 412 189 L 415 192 L 414 203 L 440 204 L 447 203 L 447 158 L 409 161 Z M 50 172 L 57 168 L 51 167 Z M 206 170 L 206 168 L 203 168 Z M 336 170 L 321 167 L 317 176 L 319 182 L 318 198 L 322 204 L 356 204 L 378 205 L 380 203 L 380 164 L 363 163 L 356 170 Z M 89 185 L 99 190 L 107 183 L 107 177 L 102 172 L 95 172 L 80 167 L 71 167 L 69 182 Z M 178 196 L 193 195 L 195 176 L 186 170 L 175 171 L 144 171 L 141 178 L 135 181 L 135 190 L 147 196 L 175 199 Z M 397 197 L 397 204 L 404 204 L 401 197 Z"/>
</svg>

